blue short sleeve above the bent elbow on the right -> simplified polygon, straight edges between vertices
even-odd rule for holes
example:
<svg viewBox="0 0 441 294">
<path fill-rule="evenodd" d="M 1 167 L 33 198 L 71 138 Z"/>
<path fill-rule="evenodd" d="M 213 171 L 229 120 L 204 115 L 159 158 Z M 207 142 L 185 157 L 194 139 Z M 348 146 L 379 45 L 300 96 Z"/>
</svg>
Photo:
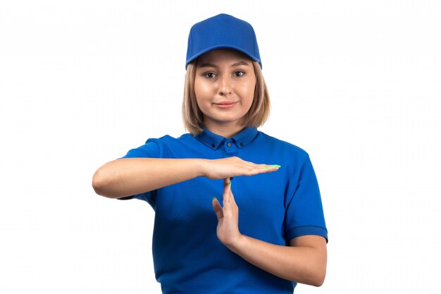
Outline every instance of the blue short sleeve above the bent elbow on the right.
<svg viewBox="0 0 441 294">
<path fill-rule="evenodd" d="M 297 182 L 285 210 L 285 239 L 287 241 L 301 235 L 321 235 L 328 242 L 323 205 L 316 173 L 311 160 L 306 155 L 297 173 Z"/>
</svg>

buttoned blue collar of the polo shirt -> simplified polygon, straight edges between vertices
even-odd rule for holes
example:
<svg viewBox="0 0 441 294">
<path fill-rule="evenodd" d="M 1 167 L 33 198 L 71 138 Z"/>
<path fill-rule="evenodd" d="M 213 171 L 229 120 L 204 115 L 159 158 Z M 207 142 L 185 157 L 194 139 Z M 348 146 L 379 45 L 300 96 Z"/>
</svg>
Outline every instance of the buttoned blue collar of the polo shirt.
<svg viewBox="0 0 441 294">
<path fill-rule="evenodd" d="M 236 135 L 232 136 L 231 139 L 234 140 L 237 144 L 237 147 L 242 148 L 245 147 L 251 142 L 254 137 L 257 135 L 257 129 L 254 127 L 247 127 L 241 130 Z M 216 135 L 215 133 L 211 133 L 211 131 L 204 127 L 202 133 L 197 135 L 197 139 L 203 142 L 205 145 L 210 147 L 211 149 L 217 149 L 219 145 L 223 142 L 223 140 L 228 140 L 221 135 Z"/>
</svg>

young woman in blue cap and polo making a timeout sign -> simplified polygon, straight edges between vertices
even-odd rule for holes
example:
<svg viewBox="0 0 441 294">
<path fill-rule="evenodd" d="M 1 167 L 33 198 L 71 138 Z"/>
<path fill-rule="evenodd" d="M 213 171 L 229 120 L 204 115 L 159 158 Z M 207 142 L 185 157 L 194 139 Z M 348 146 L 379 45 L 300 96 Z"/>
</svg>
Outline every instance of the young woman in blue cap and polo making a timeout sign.
<svg viewBox="0 0 441 294">
<path fill-rule="evenodd" d="M 269 97 L 254 30 L 195 24 L 182 113 L 190 133 L 149 139 L 101 166 L 94 190 L 155 211 L 163 293 L 292 293 L 321 286 L 328 240 L 309 155 L 261 133 Z"/>
</svg>

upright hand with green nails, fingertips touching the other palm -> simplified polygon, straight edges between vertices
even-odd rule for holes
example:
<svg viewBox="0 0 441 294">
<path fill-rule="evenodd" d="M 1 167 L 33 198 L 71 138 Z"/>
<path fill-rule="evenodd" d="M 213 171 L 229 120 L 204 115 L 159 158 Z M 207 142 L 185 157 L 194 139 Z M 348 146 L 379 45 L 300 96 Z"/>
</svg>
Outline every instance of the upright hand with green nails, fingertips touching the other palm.
<svg viewBox="0 0 441 294">
<path fill-rule="evenodd" d="M 230 178 L 223 180 L 223 207 L 216 198 L 213 198 L 212 204 L 218 216 L 218 238 L 223 245 L 230 247 L 241 236 L 238 226 L 239 208 L 231 192 Z"/>
</svg>

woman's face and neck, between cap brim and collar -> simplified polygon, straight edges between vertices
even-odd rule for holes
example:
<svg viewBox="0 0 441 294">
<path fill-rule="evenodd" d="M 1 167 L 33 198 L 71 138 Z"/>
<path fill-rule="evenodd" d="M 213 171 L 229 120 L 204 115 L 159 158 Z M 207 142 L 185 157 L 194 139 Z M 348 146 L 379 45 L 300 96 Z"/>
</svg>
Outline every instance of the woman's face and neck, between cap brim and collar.
<svg viewBox="0 0 441 294">
<path fill-rule="evenodd" d="M 206 128 L 242 129 L 244 116 L 253 103 L 255 86 L 251 59 L 239 51 L 216 49 L 200 56 L 194 92 Z"/>
</svg>

